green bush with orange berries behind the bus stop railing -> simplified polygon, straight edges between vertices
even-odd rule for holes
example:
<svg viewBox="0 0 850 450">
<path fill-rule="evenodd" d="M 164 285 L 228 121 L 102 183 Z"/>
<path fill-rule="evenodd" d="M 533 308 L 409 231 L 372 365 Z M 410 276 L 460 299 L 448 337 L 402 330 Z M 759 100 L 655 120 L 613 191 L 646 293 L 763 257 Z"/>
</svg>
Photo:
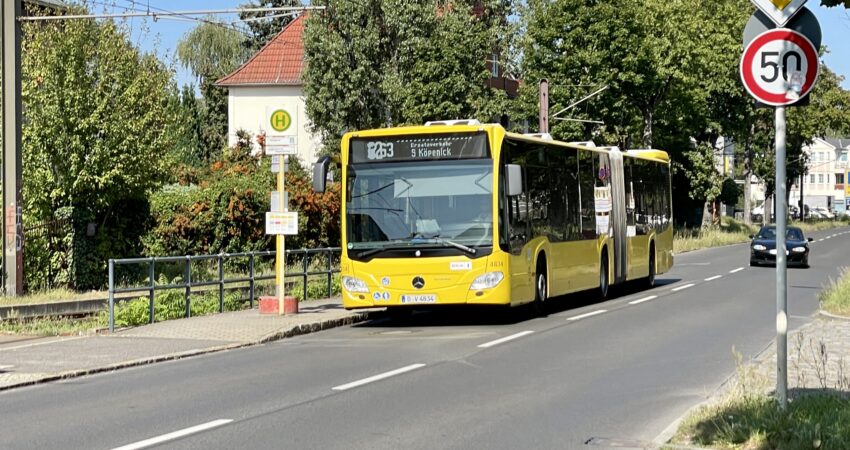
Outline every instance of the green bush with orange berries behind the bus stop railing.
<svg viewBox="0 0 850 450">
<path fill-rule="evenodd" d="M 143 238 L 150 256 L 274 250 L 265 234 L 265 213 L 275 188 L 270 158 L 234 154 L 151 196 L 154 227 Z M 290 249 L 339 245 L 339 186 L 316 194 L 297 160 L 290 163 L 286 189 L 290 210 L 299 213 L 299 233 L 286 237 Z"/>
</svg>

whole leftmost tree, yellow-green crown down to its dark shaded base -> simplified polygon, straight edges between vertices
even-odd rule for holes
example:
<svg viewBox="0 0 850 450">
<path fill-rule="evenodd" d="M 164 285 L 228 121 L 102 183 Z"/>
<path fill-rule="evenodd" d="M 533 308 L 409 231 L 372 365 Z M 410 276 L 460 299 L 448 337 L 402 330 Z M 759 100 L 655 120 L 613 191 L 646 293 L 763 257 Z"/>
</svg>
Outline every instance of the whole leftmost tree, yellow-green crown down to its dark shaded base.
<svg viewBox="0 0 850 450">
<path fill-rule="evenodd" d="M 27 22 L 23 32 L 24 222 L 70 219 L 51 231 L 68 243 L 61 255 L 25 241 L 26 283 L 97 288 L 107 258 L 140 254 L 147 195 L 176 159 L 174 72 L 113 22 Z"/>
</svg>

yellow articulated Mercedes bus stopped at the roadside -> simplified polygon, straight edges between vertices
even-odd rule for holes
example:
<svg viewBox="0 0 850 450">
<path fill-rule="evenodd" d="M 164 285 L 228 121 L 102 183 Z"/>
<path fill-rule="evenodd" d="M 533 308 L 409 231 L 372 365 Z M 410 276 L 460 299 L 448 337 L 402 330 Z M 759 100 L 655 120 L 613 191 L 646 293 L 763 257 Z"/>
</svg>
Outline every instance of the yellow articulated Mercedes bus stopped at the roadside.
<svg viewBox="0 0 850 450">
<path fill-rule="evenodd" d="M 477 121 L 342 139 L 346 309 L 510 305 L 673 265 L 670 161 Z M 314 165 L 325 188 L 330 159 Z"/>
</svg>

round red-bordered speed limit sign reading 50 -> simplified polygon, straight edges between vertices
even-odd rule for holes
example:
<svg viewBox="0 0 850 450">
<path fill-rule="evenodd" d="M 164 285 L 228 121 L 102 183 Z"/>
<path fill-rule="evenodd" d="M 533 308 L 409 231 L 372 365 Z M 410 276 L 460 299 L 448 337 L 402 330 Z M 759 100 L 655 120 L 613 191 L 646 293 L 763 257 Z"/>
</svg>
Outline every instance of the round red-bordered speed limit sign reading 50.
<svg viewBox="0 0 850 450">
<path fill-rule="evenodd" d="M 756 36 L 741 57 L 741 80 L 756 100 L 790 105 L 812 90 L 820 72 L 818 52 L 802 34 L 776 28 Z"/>
</svg>

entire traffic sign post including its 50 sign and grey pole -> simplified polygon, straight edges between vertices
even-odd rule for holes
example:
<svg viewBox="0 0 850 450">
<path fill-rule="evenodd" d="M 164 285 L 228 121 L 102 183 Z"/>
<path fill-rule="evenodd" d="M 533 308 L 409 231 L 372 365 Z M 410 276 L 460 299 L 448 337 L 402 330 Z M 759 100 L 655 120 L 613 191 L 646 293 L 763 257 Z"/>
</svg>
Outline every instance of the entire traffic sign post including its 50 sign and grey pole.
<svg viewBox="0 0 850 450">
<path fill-rule="evenodd" d="M 783 26 L 801 9 L 805 0 L 753 0 L 753 3 L 777 25 Z M 740 65 L 741 81 L 747 92 L 759 102 L 776 107 L 776 396 L 782 409 L 788 404 L 788 260 L 784 251 L 788 228 L 788 205 L 785 203 L 785 108 L 808 95 L 820 72 L 817 48 L 806 37 L 819 37 L 820 26 L 816 19 L 807 20 L 802 32 L 776 28 L 754 38 L 748 35 L 748 30 L 752 33 L 753 29 L 748 26 L 748 30 L 744 31 L 745 48 Z M 758 26 L 758 21 L 760 19 L 757 16 L 750 19 L 750 23 L 755 26 Z"/>
</svg>

